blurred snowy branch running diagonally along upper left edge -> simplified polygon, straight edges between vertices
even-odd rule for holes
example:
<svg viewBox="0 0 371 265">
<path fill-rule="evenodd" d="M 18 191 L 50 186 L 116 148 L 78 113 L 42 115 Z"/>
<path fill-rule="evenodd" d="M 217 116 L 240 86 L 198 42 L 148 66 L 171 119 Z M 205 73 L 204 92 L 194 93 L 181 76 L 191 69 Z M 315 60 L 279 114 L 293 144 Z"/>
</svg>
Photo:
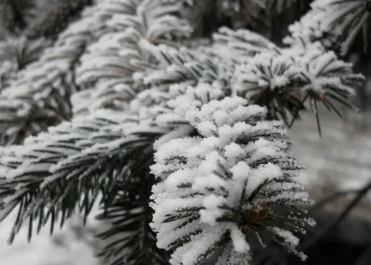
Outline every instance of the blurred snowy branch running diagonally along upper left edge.
<svg viewBox="0 0 371 265">
<path fill-rule="evenodd" d="M 20 144 L 28 135 L 71 118 L 70 94 L 80 89 L 75 80 L 80 56 L 94 37 L 105 31 L 111 16 L 131 11 L 130 2 L 110 0 L 86 9 L 82 19 L 59 34 L 39 60 L 28 64 L 3 88 L 0 108 L 6 114 L 0 119 L 1 145 Z"/>
</svg>

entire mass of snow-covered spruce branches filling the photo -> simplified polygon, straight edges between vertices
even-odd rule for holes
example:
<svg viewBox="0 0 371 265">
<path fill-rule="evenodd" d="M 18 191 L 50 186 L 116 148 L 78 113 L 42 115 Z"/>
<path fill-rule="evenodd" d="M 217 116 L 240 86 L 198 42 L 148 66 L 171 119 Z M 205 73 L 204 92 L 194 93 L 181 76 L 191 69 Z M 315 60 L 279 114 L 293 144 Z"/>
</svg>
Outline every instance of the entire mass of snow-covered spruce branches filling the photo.
<svg viewBox="0 0 371 265">
<path fill-rule="evenodd" d="M 218 264 L 250 264 L 251 236 L 305 259 L 291 231 L 314 221 L 287 128 L 311 111 L 320 134 L 319 104 L 357 111 L 363 76 L 338 53 L 367 32 L 370 4 L 315 0 L 283 45 L 252 30 L 304 12 L 299 2 L 66 0 L 37 18 L 0 6 L 0 221 L 19 213 L 9 242 L 25 222 L 31 240 L 34 221 L 53 232 L 86 217 L 101 195 L 109 265 L 196 265 L 217 248 Z M 205 32 L 213 16 L 234 20 Z"/>
</svg>

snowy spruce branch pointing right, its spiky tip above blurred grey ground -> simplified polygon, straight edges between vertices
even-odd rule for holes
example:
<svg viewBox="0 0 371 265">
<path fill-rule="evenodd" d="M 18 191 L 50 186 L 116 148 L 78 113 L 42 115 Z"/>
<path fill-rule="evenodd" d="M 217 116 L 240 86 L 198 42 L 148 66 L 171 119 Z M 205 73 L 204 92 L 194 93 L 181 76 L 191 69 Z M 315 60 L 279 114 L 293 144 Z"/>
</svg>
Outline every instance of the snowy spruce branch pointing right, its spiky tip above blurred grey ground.
<svg viewBox="0 0 371 265">
<path fill-rule="evenodd" d="M 147 47 L 160 63 L 156 70 L 138 75 L 146 85 L 218 82 L 225 95 L 229 91 L 266 106 L 268 119 L 281 119 L 288 126 L 300 118 L 308 103 L 317 121 L 318 103 L 340 117 L 337 103 L 358 111 L 350 98 L 363 76 L 353 74 L 352 64 L 326 52 L 319 43 L 279 48 L 248 30 L 221 28 L 210 47 Z"/>
</svg>

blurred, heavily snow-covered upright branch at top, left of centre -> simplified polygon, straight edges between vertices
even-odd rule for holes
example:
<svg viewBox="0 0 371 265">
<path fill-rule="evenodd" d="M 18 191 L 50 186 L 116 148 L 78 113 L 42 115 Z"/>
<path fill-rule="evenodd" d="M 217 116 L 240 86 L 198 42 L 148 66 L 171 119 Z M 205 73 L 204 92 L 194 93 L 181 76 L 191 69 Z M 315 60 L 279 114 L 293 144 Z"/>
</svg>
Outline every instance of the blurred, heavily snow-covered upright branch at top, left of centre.
<svg viewBox="0 0 371 265">
<path fill-rule="evenodd" d="M 146 88 L 136 82 L 134 74 L 157 67 L 153 56 L 141 44 L 190 36 L 189 23 L 172 15 L 180 8 L 178 4 L 146 0 L 133 7 L 133 14 L 116 14 L 108 20 L 112 31 L 88 48 L 76 69 L 77 84 L 89 89 L 72 97 L 74 112 L 83 114 L 102 107 L 125 109 Z"/>
</svg>

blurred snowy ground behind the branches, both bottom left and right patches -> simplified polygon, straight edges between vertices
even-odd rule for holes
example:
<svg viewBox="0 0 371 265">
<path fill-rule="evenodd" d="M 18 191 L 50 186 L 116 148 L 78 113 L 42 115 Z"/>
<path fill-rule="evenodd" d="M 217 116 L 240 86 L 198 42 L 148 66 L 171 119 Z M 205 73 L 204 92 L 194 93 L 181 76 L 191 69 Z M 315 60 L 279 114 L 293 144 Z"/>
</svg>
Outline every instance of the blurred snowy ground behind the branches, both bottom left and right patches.
<svg viewBox="0 0 371 265">
<path fill-rule="evenodd" d="M 360 187 L 371 178 L 371 126 L 359 131 L 354 122 L 345 126 L 337 118 L 322 115 L 322 139 L 318 137 L 314 117 L 304 117 L 290 131 L 295 145 L 292 152 L 306 164 L 307 170 L 301 181 L 316 191 L 319 199 L 336 189 Z M 369 119 L 371 121 L 371 117 Z M 349 129 L 350 128 L 350 129 Z M 371 199 L 371 197 L 370 197 Z M 371 220 L 371 207 L 363 206 L 365 216 Z M 24 227 L 12 246 L 7 238 L 13 216 L 0 224 L 0 264 L 2 265 L 99 265 L 94 257 L 93 238 L 89 229 L 98 224 L 93 218 L 88 221 L 85 233 L 77 235 L 79 220 L 68 223 L 57 230 L 53 239 L 48 228 L 27 243 L 27 228 Z"/>
</svg>

